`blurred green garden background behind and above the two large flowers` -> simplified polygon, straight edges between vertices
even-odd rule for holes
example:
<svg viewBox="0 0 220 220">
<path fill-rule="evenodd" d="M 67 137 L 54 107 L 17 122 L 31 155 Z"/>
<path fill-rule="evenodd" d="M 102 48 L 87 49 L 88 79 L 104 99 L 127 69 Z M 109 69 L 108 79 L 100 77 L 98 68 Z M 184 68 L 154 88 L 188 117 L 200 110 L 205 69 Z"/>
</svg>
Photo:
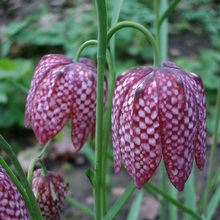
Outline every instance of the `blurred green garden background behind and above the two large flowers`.
<svg viewBox="0 0 220 220">
<path fill-rule="evenodd" d="M 114 1 L 108 0 L 109 24 Z M 74 58 L 79 46 L 97 37 L 94 1 L 0 1 L 0 131 L 24 129 L 27 92 L 39 59 L 49 53 Z M 154 33 L 153 1 L 126 0 L 120 20 L 139 22 Z M 207 95 L 207 130 L 213 132 L 220 78 L 220 3 L 181 1 L 169 19 L 169 60 L 202 77 Z M 83 56 L 96 58 L 96 47 Z M 144 36 L 126 29 L 116 36 L 117 73 L 152 65 Z"/>
</svg>

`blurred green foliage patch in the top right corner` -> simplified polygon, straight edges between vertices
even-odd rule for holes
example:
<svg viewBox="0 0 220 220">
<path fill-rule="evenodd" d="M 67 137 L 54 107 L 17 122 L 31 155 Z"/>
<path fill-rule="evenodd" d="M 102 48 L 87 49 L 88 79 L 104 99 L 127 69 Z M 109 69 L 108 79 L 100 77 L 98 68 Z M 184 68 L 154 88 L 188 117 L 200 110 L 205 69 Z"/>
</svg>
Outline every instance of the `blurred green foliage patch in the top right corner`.
<svg viewBox="0 0 220 220">
<path fill-rule="evenodd" d="M 174 11 L 174 32 L 187 30 L 206 35 L 211 44 L 220 50 L 220 5 L 211 0 L 184 1 Z M 172 17 L 171 17 L 172 20 Z"/>
</svg>

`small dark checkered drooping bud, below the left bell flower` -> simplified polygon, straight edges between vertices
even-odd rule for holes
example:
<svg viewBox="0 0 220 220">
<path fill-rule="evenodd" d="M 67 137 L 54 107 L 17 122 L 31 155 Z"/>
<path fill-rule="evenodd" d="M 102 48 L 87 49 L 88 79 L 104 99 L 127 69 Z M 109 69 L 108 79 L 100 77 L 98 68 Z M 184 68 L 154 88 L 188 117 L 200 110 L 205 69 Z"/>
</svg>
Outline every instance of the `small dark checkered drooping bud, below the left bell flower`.
<svg viewBox="0 0 220 220">
<path fill-rule="evenodd" d="M 54 172 L 42 174 L 41 169 L 33 173 L 32 189 L 45 220 L 59 220 L 64 206 L 68 184 Z"/>
</svg>

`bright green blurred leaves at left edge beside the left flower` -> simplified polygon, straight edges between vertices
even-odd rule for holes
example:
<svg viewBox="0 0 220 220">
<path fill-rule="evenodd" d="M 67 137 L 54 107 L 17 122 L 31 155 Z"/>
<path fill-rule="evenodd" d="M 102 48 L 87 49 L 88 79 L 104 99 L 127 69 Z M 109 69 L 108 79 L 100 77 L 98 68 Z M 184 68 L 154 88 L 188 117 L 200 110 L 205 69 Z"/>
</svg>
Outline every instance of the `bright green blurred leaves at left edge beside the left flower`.
<svg viewBox="0 0 220 220">
<path fill-rule="evenodd" d="M 0 59 L 0 127 L 23 127 L 24 106 L 33 62 L 24 59 Z"/>
</svg>

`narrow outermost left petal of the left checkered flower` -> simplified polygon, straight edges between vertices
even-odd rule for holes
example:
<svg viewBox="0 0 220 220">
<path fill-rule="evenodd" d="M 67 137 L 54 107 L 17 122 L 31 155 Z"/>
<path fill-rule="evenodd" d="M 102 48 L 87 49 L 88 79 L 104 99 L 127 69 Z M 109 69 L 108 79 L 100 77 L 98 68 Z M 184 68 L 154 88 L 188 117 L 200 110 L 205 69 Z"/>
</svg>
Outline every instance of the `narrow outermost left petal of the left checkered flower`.
<svg viewBox="0 0 220 220">
<path fill-rule="evenodd" d="M 26 111 L 25 111 L 25 127 L 29 127 L 30 125 L 33 98 L 41 81 L 53 68 L 56 68 L 57 66 L 61 66 L 61 65 L 66 65 L 69 63 L 73 63 L 73 61 L 61 54 L 49 54 L 42 57 L 42 59 L 39 61 L 35 69 L 33 79 L 31 81 L 30 90 L 27 96 Z"/>
</svg>

